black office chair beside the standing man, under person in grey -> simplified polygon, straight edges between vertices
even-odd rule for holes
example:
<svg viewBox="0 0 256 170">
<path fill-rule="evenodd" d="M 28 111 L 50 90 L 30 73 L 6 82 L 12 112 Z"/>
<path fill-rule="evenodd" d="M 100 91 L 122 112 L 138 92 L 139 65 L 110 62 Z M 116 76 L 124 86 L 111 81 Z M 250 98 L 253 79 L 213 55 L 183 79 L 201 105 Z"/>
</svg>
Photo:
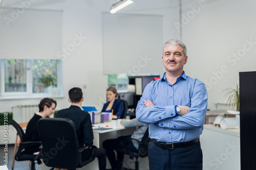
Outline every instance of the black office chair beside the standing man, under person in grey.
<svg viewBox="0 0 256 170">
<path fill-rule="evenodd" d="M 125 138 L 122 138 L 122 139 L 125 139 Z M 128 138 L 126 138 L 128 139 Z M 124 149 L 124 147 L 122 149 L 118 149 L 117 152 L 122 152 L 126 155 L 129 155 L 130 156 L 130 159 L 133 160 L 133 162 L 135 163 L 135 170 L 139 170 L 139 161 L 138 161 L 138 158 L 141 157 L 141 158 L 144 158 L 147 156 L 147 146 L 148 146 L 148 143 L 150 143 L 151 139 L 148 138 L 148 128 L 147 130 L 145 131 L 141 141 L 137 140 L 137 139 L 134 139 L 134 138 L 131 138 L 130 139 L 132 140 L 136 140 L 139 142 L 139 148 L 138 148 L 138 152 L 131 152 L 131 151 L 126 151 Z M 122 142 L 122 140 L 121 140 Z M 124 145 L 124 143 L 122 143 Z M 124 168 L 126 169 L 126 168 Z"/>
</svg>

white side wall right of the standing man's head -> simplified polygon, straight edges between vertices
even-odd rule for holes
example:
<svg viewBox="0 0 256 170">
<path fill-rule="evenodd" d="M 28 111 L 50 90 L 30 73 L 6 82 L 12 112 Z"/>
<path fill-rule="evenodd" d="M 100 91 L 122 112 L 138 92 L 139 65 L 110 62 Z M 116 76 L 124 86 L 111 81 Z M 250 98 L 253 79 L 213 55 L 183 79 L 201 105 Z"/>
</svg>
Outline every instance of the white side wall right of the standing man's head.
<svg viewBox="0 0 256 170">
<path fill-rule="evenodd" d="M 215 102 L 227 100 L 223 90 L 239 83 L 239 72 L 256 70 L 256 1 L 205 1 L 195 15 L 190 6 L 199 1 L 182 2 L 182 14 L 191 18 L 182 28 L 188 48 L 185 71 L 206 84 L 208 108 L 214 110 Z"/>
</svg>

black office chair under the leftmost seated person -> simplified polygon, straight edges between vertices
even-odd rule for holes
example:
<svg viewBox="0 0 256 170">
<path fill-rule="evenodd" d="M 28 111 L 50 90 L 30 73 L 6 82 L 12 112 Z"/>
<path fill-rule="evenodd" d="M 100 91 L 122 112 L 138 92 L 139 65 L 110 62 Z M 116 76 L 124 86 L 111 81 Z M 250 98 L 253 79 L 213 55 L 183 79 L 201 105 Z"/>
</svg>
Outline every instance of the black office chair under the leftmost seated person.
<svg viewBox="0 0 256 170">
<path fill-rule="evenodd" d="M 15 122 L 15 120 L 10 120 L 10 124 L 17 130 L 17 134 L 19 135 L 20 143 L 18 147 L 18 151 L 15 154 L 15 160 L 16 161 L 31 161 L 31 170 L 35 170 L 35 161 L 37 161 L 38 164 L 41 163 L 41 152 L 38 155 L 28 154 L 24 151 L 24 149 L 31 147 L 33 145 L 41 145 L 40 141 L 24 141 L 25 133 L 23 129 Z"/>
</svg>

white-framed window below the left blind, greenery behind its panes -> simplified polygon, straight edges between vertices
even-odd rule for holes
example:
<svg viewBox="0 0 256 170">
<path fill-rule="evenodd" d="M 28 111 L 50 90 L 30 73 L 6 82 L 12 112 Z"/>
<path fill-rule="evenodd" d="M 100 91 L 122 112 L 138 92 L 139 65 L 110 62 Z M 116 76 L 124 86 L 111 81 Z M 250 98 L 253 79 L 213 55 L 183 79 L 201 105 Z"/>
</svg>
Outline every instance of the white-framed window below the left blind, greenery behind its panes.
<svg viewBox="0 0 256 170">
<path fill-rule="evenodd" d="M 1 59 L 0 64 L 1 96 L 61 95 L 61 60 Z"/>
</svg>

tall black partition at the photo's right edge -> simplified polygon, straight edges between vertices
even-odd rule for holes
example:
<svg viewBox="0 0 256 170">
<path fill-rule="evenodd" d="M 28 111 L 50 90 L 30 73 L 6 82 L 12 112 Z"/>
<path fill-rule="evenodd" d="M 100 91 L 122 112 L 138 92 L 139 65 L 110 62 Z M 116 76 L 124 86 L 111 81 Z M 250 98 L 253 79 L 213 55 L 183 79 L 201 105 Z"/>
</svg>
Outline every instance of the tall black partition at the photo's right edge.
<svg viewBox="0 0 256 170">
<path fill-rule="evenodd" d="M 256 168 L 256 71 L 240 72 L 241 169 Z"/>
</svg>

